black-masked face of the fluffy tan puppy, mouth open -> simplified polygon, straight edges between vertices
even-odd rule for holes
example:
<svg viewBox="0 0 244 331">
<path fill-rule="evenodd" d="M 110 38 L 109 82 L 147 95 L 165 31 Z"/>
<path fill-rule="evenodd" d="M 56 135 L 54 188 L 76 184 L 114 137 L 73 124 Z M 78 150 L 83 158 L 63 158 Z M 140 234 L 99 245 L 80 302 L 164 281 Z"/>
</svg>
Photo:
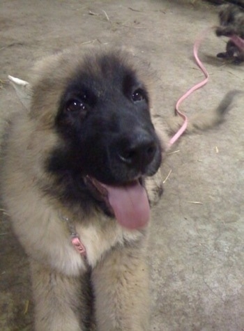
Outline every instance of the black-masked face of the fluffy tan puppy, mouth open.
<svg viewBox="0 0 244 331">
<path fill-rule="evenodd" d="M 128 201 L 146 203 L 143 178 L 160 167 L 160 142 L 146 87 L 121 59 L 87 59 L 63 93 L 55 125 L 64 146 L 52 153 L 49 171 L 66 183 L 67 199 L 84 201 L 86 193 L 117 218 Z"/>
</svg>

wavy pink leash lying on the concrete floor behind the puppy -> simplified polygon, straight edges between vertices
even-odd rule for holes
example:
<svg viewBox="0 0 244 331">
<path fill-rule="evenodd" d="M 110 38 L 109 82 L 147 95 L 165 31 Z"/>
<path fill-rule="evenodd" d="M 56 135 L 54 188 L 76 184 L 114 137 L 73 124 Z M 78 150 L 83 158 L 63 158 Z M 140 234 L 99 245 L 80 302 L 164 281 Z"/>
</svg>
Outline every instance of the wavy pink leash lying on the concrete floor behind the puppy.
<svg viewBox="0 0 244 331">
<path fill-rule="evenodd" d="M 212 28 L 211 28 L 212 29 Z M 195 61 L 197 62 L 197 66 L 199 66 L 199 68 L 201 69 L 201 71 L 204 73 L 205 75 L 205 79 L 203 81 L 201 81 L 200 83 L 196 84 L 195 86 L 192 86 L 192 88 L 190 88 L 184 95 L 182 95 L 182 97 L 180 99 L 178 99 L 178 101 L 176 102 L 176 107 L 175 107 L 175 113 L 178 115 L 178 116 L 181 116 L 184 120 L 183 122 L 183 125 L 181 126 L 181 128 L 176 132 L 176 134 L 174 134 L 173 137 L 171 137 L 171 139 L 169 140 L 169 145 L 173 145 L 176 140 L 181 137 L 181 134 L 183 134 L 183 132 L 185 131 L 185 129 L 187 128 L 188 126 L 188 117 L 183 114 L 179 109 L 179 105 L 181 105 L 181 102 L 183 100 L 185 100 L 186 98 L 188 98 L 188 96 L 196 91 L 198 88 L 200 88 L 201 86 L 204 86 L 206 84 L 206 82 L 208 82 L 208 72 L 207 70 L 204 68 L 204 65 L 201 63 L 201 61 L 199 60 L 199 57 L 198 57 L 198 49 L 199 49 L 199 46 L 201 44 L 201 41 L 204 39 L 204 36 L 206 35 L 206 32 L 209 30 L 206 29 L 204 31 L 204 33 L 202 33 L 202 36 L 201 38 L 198 38 L 196 41 L 195 41 L 195 44 L 194 44 L 194 47 L 193 47 L 193 54 L 194 54 L 194 57 L 195 57 Z"/>
</svg>

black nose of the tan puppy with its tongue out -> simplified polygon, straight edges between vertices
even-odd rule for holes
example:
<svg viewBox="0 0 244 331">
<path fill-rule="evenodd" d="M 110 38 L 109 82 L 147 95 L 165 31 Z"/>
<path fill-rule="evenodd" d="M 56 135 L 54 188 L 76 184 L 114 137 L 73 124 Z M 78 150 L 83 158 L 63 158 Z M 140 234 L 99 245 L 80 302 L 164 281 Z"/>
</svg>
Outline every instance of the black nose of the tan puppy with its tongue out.
<svg viewBox="0 0 244 331">
<path fill-rule="evenodd" d="M 128 166 L 143 170 L 153 161 L 156 149 L 155 139 L 150 134 L 137 132 L 126 143 L 123 141 L 119 147 L 119 158 Z"/>
</svg>

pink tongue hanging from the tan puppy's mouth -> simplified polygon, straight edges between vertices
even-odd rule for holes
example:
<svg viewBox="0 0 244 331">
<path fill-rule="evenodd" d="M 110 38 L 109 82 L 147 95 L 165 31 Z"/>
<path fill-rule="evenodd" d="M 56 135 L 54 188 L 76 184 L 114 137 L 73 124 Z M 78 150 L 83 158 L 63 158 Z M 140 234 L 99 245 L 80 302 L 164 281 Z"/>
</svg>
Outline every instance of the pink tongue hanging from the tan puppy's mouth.
<svg viewBox="0 0 244 331">
<path fill-rule="evenodd" d="M 104 186 L 119 224 L 128 229 L 138 229 L 148 223 L 150 216 L 148 198 L 146 190 L 138 181 L 121 187 Z"/>
</svg>

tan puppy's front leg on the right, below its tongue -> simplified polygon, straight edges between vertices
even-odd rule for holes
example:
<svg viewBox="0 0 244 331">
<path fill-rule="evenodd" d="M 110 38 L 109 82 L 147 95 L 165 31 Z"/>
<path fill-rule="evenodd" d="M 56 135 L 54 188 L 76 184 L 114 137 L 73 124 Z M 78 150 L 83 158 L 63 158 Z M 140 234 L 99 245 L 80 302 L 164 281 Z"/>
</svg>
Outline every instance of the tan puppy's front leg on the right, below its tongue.
<svg viewBox="0 0 244 331">
<path fill-rule="evenodd" d="M 142 243 L 116 247 L 92 272 L 99 331 L 148 331 L 148 270 Z"/>
</svg>

